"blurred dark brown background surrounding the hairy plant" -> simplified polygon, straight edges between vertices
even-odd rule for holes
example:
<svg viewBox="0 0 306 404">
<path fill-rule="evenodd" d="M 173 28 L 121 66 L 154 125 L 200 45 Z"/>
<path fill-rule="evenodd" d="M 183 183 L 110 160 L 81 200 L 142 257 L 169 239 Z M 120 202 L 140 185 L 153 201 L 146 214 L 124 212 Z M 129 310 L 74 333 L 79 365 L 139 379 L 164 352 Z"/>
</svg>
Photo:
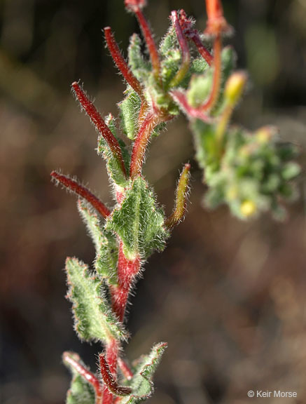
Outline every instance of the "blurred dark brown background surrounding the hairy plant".
<svg viewBox="0 0 306 404">
<path fill-rule="evenodd" d="M 235 121 L 275 123 L 306 149 L 306 1 L 224 0 L 235 27 L 238 65 L 251 81 Z M 169 12 L 185 8 L 204 29 L 204 0 L 152 0 L 146 15 L 158 39 Z M 96 135 L 70 93 L 81 79 L 104 114 L 116 114 L 124 85 L 104 48 L 111 25 L 126 49 L 137 31 L 123 0 L 0 0 L 0 402 L 60 404 L 70 375 L 64 350 L 95 369 L 99 346 L 78 341 L 62 268 L 67 255 L 92 262 L 94 250 L 74 196 L 50 171 L 77 175 L 111 203 Z M 305 403 L 305 176 L 301 198 L 279 224 L 245 224 L 226 208 L 201 206 L 204 185 L 184 119 L 154 140 L 146 164 L 167 213 L 183 162 L 193 166 L 186 220 L 164 253 L 146 265 L 132 297 L 127 357 L 154 342 L 169 349 L 150 404 L 247 403 L 250 389 L 297 391 Z M 277 401 L 279 402 L 279 401 Z M 270 398 L 269 403 L 274 403 Z"/>
</svg>

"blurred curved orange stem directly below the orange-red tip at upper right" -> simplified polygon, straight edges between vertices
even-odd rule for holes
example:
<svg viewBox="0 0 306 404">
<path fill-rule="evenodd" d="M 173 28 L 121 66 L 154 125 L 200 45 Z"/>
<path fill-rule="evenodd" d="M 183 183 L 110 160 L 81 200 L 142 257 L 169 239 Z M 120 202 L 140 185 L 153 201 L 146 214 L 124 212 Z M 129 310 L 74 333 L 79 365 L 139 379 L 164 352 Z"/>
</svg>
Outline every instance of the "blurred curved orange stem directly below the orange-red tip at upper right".
<svg viewBox="0 0 306 404">
<path fill-rule="evenodd" d="M 218 95 L 221 86 L 221 48 L 222 41 L 221 36 L 217 35 L 214 41 L 214 81 L 211 88 L 211 93 L 209 98 L 200 109 L 202 111 L 207 111 L 207 109 L 212 109 L 218 100 Z"/>
</svg>

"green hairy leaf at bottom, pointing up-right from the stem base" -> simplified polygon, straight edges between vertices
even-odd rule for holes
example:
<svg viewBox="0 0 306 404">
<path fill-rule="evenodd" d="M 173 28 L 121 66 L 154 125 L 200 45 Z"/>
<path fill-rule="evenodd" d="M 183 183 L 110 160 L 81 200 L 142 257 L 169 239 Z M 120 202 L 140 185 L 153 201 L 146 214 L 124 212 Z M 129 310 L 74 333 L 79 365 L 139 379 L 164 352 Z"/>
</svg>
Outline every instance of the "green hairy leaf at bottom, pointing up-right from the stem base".
<svg viewBox="0 0 306 404">
<path fill-rule="evenodd" d="M 139 401 L 144 401 L 152 396 L 154 390 L 152 382 L 153 374 L 166 348 L 167 344 L 160 342 L 160 344 L 153 346 L 149 355 L 141 357 L 134 370 L 134 377 L 130 382 L 132 394 L 123 397 L 120 400 L 120 404 L 139 403 Z"/>
</svg>

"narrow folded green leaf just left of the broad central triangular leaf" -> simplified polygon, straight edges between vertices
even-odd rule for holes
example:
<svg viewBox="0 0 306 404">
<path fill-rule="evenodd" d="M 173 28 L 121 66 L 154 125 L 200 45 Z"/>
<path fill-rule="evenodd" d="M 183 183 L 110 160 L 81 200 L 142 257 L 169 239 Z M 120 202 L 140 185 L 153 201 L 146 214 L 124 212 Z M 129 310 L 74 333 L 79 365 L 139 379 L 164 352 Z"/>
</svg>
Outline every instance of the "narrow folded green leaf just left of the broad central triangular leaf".
<svg viewBox="0 0 306 404">
<path fill-rule="evenodd" d="M 95 270 L 99 277 L 108 284 L 117 283 L 118 244 L 116 238 L 102 229 L 99 217 L 85 201 L 78 202 L 81 214 L 92 241 L 95 243 Z"/>
</svg>

